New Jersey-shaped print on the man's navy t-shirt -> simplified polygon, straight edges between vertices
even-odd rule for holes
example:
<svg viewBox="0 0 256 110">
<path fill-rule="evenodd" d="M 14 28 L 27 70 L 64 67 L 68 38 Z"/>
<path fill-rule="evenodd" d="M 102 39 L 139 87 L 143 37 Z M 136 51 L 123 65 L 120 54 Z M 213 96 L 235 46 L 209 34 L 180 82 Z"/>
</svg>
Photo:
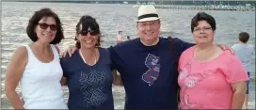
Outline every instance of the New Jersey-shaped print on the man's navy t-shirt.
<svg viewBox="0 0 256 110">
<path fill-rule="evenodd" d="M 160 72 L 159 56 L 149 54 L 146 57 L 145 65 L 149 68 L 149 71 L 146 71 L 142 75 L 142 80 L 152 86 L 153 82 L 158 78 Z"/>
</svg>

